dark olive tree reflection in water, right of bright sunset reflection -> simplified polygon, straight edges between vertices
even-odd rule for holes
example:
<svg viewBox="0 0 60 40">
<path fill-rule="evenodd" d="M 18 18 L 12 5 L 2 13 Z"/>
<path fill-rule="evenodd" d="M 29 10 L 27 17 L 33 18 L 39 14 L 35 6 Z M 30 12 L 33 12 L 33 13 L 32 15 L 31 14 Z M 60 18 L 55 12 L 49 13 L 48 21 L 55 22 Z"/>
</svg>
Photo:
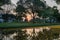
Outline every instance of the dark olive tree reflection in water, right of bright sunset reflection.
<svg viewBox="0 0 60 40">
<path fill-rule="evenodd" d="M 37 36 L 33 36 L 33 40 L 53 40 L 53 39 L 58 39 L 59 38 L 59 33 L 54 33 L 55 30 L 53 31 L 52 29 L 47 30 L 43 29 L 43 31 L 39 31 L 37 33 Z"/>
</svg>

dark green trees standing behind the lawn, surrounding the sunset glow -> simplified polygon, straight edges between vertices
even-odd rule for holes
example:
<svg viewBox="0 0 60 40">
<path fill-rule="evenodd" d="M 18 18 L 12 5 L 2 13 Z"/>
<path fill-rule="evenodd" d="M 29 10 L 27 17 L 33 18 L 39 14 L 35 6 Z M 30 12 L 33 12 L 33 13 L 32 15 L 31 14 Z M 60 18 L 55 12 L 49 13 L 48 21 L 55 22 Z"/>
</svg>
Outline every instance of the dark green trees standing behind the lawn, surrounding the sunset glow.
<svg viewBox="0 0 60 40">
<path fill-rule="evenodd" d="M 30 5 L 31 2 L 33 3 L 33 5 Z M 33 23 L 37 23 L 37 26 L 45 25 L 45 24 L 50 25 L 51 23 L 52 24 L 56 24 L 56 23 L 59 24 L 60 23 L 60 13 L 59 13 L 59 10 L 57 9 L 57 7 L 54 6 L 54 7 L 51 8 L 49 6 L 46 6 L 45 3 L 46 3 L 45 1 L 42 2 L 40 0 L 33 0 L 33 1 L 32 0 L 27 0 L 26 1 L 26 4 L 30 5 L 30 6 L 28 6 L 28 5 L 27 6 L 28 6 L 29 9 L 32 10 L 32 13 L 34 14 L 34 12 L 37 12 L 38 16 L 43 18 L 41 20 L 39 18 L 35 19 L 33 17 L 33 20 L 30 21 L 30 23 L 31 23 L 30 25 L 32 25 Z M 0 6 L 4 5 L 4 4 L 11 4 L 11 1 L 10 0 L 0 0 Z M 7 22 L 7 24 L 9 24 L 10 23 L 9 21 L 11 21 L 12 24 L 14 23 L 14 24 L 17 25 L 17 23 L 18 23 L 17 26 L 19 26 L 19 24 L 21 25 L 21 23 L 23 23 L 24 26 L 25 26 L 25 25 L 27 25 L 27 22 L 26 21 L 22 22 L 21 17 L 23 15 L 23 12 L 25 12 L 25 10 L 28 9 L 28 8 L 25 8 L 23 6 L 22 0 L 21 1 L 19 0 L 17 2 L 17 7 L 15 9 L 15 11 L 17 12 L 17 15 L 8 14 L 8 12 L 6 12 L 6 14 L 2 15 L 2 19 L 4 19 L 4 22 L 5 23 Z M 0 8 L 0 10 L 2 10 L 2 9 Z M 46 19 L 46 18 L 49 18 L 49 19 Z M 1 24 L 7 26 L 7 24 L 5 24 L 5 23 L 1 23 Z M 35 24 L 33 24 L 33 25 L 36 26 Z"/>
</svg>

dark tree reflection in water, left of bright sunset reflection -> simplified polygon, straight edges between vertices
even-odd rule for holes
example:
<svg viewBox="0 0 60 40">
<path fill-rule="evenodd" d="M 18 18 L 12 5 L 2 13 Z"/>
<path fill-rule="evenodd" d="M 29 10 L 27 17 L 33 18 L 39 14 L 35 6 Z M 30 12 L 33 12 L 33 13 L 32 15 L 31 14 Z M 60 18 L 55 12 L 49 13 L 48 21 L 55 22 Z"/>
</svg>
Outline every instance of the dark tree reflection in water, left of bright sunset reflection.
<svg viewBox="0 0 60 40">
<path fill-rule="evenodd" d="M 11 34 L 16 33 L 17 35 L 13 37 L 13 39 L 15 40 L 27 40 L 27 34 L 26 34 L 26 30 L 22 31 L 21 29 L 18 30 L 9 30 L 9 29 L 3 29 L 2 31 L 2 35 L 4 36 L 9 36 Z"/>
</svg>

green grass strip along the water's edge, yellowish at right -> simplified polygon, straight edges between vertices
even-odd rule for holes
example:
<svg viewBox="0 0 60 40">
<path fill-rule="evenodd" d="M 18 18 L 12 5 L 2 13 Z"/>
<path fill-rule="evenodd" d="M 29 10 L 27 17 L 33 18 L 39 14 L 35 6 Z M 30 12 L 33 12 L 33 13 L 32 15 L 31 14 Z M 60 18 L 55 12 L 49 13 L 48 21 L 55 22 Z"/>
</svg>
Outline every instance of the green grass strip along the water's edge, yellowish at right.
<svg viewBox="0 0 60 40">
<path fill-rule="evenodd" d="M 60 28 L 60 23 L 0 23 L 0 28 L 31 28 L 31 27 L 52 27 Z"/>
</svg>

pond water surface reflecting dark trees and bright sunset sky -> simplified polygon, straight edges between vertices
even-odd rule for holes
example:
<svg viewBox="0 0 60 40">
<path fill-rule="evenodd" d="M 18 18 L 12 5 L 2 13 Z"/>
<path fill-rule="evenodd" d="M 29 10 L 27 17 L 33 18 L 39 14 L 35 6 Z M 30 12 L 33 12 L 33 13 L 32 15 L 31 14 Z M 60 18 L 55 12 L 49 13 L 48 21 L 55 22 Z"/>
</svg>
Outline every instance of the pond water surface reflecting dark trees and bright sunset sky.
<svg viewBox="0 0 60 40">
<path fill-rule="evenodd" d="M 0 40 L 60 40 L 60 29 L 50 27 L 0 30 Z"/>
</svg>

